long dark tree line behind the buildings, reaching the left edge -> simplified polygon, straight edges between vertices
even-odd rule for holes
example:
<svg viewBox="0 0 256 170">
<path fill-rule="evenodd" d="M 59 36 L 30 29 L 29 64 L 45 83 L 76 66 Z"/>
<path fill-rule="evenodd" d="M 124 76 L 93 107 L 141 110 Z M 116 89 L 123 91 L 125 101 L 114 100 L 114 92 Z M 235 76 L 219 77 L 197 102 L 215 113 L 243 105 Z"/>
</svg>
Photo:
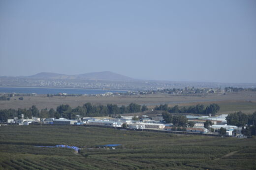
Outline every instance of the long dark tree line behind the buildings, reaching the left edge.
<svg viewBox="0 0 256 170">
<path fill-rule="evenodd" d="M 93 105 L 91 103 L 86 103 L 83 106 L 77 106 L 76 108 L 71 108 L 69 105 L 60 105 L 54 110 L 51 108 L 48 110 L 47 108 L 39 111 L 36 106 L 32 106 L 29 109 L 8 109 L 8 110 L 0 110 L 0 122 L 7 122 L 7 119 L 11 119 L 14 117 L 21 118 L 22 114 L 25 118 L 33 117 L 54 117 L 60 118 L 64 117 L 67 119 L 75 119 L 76 115 L 80 115 L 81 117 L 89 117 L 89 116 L 108 116 L 108 115 L 116 115 L 123 113 L 136 113 L 143 112 L 148 110 L 147 106 L 138 105 L 135 103 L 130 103 L 128 106 L 118 107 L 116 104 L 107 104 L 103 105 Z"/>
</svg>

